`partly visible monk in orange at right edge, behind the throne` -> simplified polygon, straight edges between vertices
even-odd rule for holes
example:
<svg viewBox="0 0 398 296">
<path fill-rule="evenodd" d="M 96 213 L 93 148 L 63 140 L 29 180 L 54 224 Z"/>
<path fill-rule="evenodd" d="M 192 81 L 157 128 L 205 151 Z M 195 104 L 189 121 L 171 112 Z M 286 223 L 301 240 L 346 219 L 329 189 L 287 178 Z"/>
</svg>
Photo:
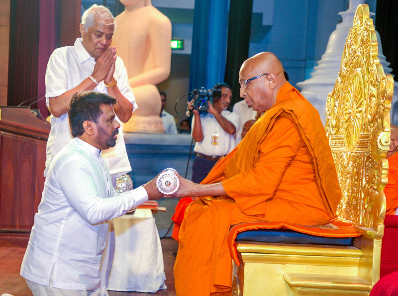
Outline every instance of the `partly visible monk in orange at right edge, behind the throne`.
<svg viewBox="0 0 398 296">
<path fill-rule="evenodd" d="M 390 151 L 387 152 L 389 161 L 389 182 L 387 183 L 384 194 L 386 195 L 387 207 L 386 214 L 394 215 L 398 208 L 398 127 L 391 124 L 391 143 Z"/>
</svg>

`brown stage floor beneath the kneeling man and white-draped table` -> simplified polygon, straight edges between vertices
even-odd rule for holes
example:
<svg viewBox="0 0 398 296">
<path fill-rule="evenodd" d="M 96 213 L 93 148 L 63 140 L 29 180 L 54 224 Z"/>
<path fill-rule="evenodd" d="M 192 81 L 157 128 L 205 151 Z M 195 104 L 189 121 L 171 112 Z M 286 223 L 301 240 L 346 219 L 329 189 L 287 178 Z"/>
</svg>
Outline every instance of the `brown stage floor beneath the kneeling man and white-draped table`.
<svg viewBox="0 0 398 296">
<path fill-rule="evenodd" d="M 172 238 L 161 239 L 163 260 L 166 273 L 167 290 L 161 290 L 158 293 L 134 293 L 134 292 L 115 292 L 109 291 L 109 296 L 175 296 L 173 267 L 176 257 L 173 252 L 177 252 L 178 243 Z M 13 296 L 30 296 L 32 295 L 25 279 L 19 276 L 19 270 L 22 263 L 25 248 L 7 248 L 0 247 L 0 295 L 4 293 Z"/>
</svg>

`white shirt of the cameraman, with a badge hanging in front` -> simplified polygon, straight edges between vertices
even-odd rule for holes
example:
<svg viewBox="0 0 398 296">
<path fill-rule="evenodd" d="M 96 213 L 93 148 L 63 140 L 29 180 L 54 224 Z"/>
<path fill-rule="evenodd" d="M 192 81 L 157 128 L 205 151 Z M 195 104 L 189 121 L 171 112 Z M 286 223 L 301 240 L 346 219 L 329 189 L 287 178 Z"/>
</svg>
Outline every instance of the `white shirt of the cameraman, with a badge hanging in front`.
<svg viewBox="0 0 398 296">
<path fill-rule="evenodd" d="M 239 129 L 239 116 L 228 110 L 221 111 L 221 116 L 231 122 L 236 130 Z M 221 125 L 215 119 L 213 114 L 207 113 L 200 115 L 200 123 L 202 125 L 203 140 L 196 142 L 194 151 L 207 156 L 227 155 L 235 148 L 235 135 L 228 134 L 222 129 Z M 195 114 L 192 119 L 192 132 L 194 131 Z"/>
</svg>

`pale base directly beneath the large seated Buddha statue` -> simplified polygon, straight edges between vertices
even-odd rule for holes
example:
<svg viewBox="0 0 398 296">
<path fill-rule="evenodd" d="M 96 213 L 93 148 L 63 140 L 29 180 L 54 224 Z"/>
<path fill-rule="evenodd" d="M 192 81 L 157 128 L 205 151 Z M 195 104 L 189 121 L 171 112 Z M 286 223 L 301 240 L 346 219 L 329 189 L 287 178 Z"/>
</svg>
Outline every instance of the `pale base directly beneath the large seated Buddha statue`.
<svg viewBox="0 0 398 296">
<path fill-rule="evenodd" d="M 136 133 L 164 133 L 165 128 L 160 116 L 131 116 L 130 120 L 123 123 L 123 131 Z"/>
</svg>

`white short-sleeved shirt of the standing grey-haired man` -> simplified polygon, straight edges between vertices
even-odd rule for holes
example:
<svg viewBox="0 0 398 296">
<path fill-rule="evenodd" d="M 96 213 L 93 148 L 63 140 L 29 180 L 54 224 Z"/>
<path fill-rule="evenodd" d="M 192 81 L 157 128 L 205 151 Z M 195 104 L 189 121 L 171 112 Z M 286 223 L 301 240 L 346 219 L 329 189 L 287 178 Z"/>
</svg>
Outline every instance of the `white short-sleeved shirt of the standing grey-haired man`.
<svg viewBox="0 0 398 296">
<path fill-rule="evenodd" d="M 49 98 L 58 97 L 66 91 L 77 87 L 83 80 L 93 74 L 95 64 L 95 59 L 83 47 L 82 38 L 76 39 L 74 46 L 65 46 L 54 50 L 48 61 L 46 71 L 47 106 L 49 106 Z M 120 93 L 133 104 L 135 110 L 137 104 L 128 83 L 127 70 L 120 57 L 117 57 L 115 65 L 113 77 L 117 80 L 117 87 Z M 94 91 L 104 94 L 108 93 L 103 81 L 100 82 Z M 119 119 L 117 120 L 120 122 Z M 47 159 L 44 177 L 47 176 L 48 167 L 54 156 L 71 139 L 72 134 L 69 127 L 68 113 L 61 115 L 59 118 L 51 115 L 51 130 L 47 141 Z M 106 152 L 104 151 L 102 157 L 111 174 L 119 173 L 119 175 L 122 175 L 131 171 L 122 127 L 119 128 L 116 146 L 107 149 Z"/>
</svg>

